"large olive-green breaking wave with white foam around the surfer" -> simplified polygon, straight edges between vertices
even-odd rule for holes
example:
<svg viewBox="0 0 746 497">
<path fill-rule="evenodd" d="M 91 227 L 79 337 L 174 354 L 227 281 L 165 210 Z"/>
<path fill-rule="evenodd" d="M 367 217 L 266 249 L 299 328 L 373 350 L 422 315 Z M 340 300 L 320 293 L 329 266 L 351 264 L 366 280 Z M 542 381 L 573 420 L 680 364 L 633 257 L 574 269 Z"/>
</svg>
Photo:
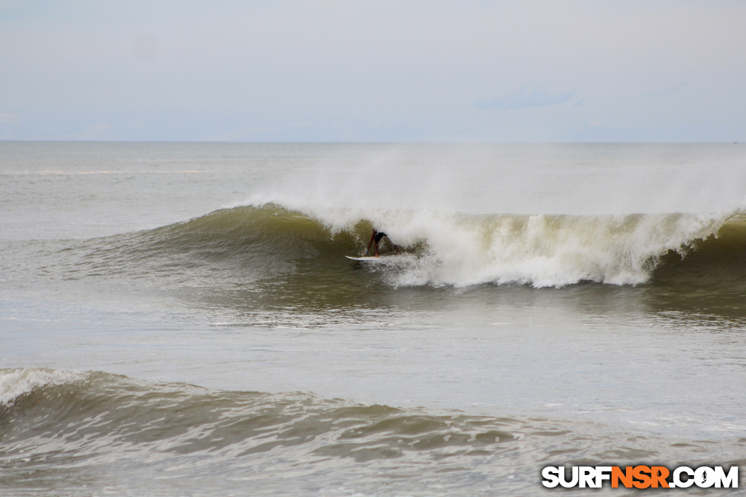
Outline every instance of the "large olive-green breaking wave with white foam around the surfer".
<svg viewBox="0 0 746 497">
<path fill-rule="evenodd" d="M 362 254 L 374 226 L 402 254 L 369 269 L 395 287 L 635 285 L 716 277 L 724 267 L 742 267 L 746 253 L 741 212 L 530 216 L 379 210 L 365 216 L 264 204 L 99 240 L 71 272 L 213 275 L 226 281 L 238 273 L 241 281 L 258 281 L 305 272 L 316 284 L 333 286 L 348 278 L 344 270 L 351 263 L 343 256 Z M 393 248 L 384 242 L 381 252 L 392 254 Z"/>
</svg>

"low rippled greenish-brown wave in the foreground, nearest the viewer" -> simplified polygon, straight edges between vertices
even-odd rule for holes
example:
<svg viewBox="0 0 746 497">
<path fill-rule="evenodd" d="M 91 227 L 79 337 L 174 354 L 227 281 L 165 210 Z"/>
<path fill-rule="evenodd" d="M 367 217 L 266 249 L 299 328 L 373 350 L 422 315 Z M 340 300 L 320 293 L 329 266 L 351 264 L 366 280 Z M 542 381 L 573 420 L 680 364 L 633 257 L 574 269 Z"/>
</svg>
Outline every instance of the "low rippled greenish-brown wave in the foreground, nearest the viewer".
<svg viewBox="0 0 746 497">
<path fill-rule="evenodd" d="M 539 488 L 540 466 L 639 462 L 661 450 L 668 460 L 712 455 L 706 444 L 587 422 L 0 369 L 0 486 L 14 495 L 192 493 L 181 478 L 204 493 L 242 495 L 380 495 L 382 485 L 387 495 L 464 486 L 520 495 Z"/>
</svg>

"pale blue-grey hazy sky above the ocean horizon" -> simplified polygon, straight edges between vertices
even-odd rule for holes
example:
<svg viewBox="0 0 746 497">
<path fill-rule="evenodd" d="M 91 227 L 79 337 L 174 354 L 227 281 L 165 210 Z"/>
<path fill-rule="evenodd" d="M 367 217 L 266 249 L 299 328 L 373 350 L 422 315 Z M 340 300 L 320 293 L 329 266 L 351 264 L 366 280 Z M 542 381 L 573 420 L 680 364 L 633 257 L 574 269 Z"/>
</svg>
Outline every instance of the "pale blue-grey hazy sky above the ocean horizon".
<svg viewBox="0 0 746 497">
<path fill-rule="evenodd" d="M 744 26 L 724 0 L 0 0 L 0 140 L 746 141 Z"/>
</svg>

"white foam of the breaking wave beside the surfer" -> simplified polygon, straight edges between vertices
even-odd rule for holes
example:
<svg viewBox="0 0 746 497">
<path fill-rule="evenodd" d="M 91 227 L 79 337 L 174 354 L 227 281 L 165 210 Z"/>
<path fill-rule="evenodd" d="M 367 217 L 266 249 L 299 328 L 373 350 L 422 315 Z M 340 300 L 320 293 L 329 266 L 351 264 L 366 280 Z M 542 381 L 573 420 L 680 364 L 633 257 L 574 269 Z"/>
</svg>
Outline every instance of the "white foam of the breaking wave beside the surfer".
<svg viewBox="0 0 746 497">
<path fill-rule="evenodd" d="M 727 217 L 687 213 L 480 216 L 299 207 L 293 205 L 332 231 L 352 230 L 368 219 L 393 243 L 424 242 L 426 253 L 391 271 L 392 284 L 401 286 L 642 284 L 651 278 L 657 257 L 716 234 Z"/>
</svg>

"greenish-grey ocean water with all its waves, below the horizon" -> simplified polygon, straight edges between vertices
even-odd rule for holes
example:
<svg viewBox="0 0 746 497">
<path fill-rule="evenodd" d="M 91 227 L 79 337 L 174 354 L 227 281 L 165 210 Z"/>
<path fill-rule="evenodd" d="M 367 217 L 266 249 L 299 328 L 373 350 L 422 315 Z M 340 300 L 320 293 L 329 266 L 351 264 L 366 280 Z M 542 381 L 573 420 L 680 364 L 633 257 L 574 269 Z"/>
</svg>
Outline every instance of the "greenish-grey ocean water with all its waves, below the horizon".
<svg viewBox="0 0 746 497">
<path fill-rule="evenodd" d="M 0 495 L 746 466 L 745 209 L 741 144 L 0 142 Z"/>
</svg>

